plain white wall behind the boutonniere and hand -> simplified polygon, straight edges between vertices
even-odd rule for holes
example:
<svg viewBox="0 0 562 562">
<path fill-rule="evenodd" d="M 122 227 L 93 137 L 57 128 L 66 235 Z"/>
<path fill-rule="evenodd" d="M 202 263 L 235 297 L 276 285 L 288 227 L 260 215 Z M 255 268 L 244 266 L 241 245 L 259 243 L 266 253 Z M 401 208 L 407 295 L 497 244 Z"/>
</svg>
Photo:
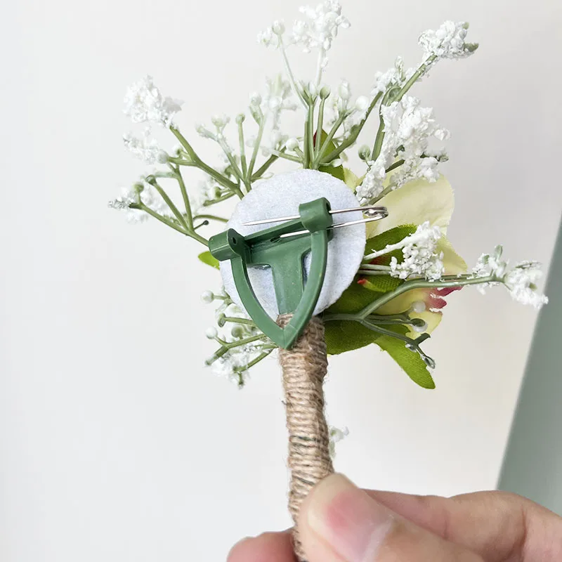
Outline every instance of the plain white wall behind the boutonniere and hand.
<svg viewBox="0 0 562 562">
<path fill-rule="evenodd" d="M 256 45 L 300 2 L 76 2 L 4 6 L 1 159 L 0 558 L 223 560 L 235 540 L 289 525 L 275 361 L 244 391 L 202 367 L 214 271 L 159 224 L 105 207 L 143 168 L 124 152 L 126 86 L 150 72 L 185 100 L 185 130 L 280 69 Z M 415 95 L 452 129 L 450 237 L 469 263 L 504 242 L 549 261 L 560 219 L 562 8 L 557 0 L 347 0 L 352 28 L 328 78 L 368 91 L 419 32 L 469 20 L 481 50 L 442 63 Z M 304 72 L 308 60 L 296 64 Z M 169 141 L 171 144 L 171 141 Z M 215 150 L 198 139 L 206 157 Z M 450 298 L 427 350 L 436 391 L 376 348 L 334 358 L 336 467 L 360 485 L 454 494 L 495 485 L 535 321 L 503 292 Z"/>
</svg>

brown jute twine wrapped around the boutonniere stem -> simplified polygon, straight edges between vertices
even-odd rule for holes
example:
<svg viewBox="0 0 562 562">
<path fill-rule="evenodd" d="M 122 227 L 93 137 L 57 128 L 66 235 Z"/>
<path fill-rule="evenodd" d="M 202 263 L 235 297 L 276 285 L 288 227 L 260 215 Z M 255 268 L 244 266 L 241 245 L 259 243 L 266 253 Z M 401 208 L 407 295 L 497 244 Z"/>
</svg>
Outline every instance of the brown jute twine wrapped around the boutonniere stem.
<svg viewBox="0 0 562 562">
<path fill-rule="evenodd" d="M 277 324 L 284 327 L 290 319 L 290 314 L 280 315 Z M 289 430 L 287 464 L 291 471 L 289 511 L 295 523 L 294 551 L 299 562 L 306 562 L 299 540 L 299 510 L 314 485 L 334 472 L 322 388 L 328 361 L 324 325 L 319 318 L 312 318 L 292 349 L 280 349 L 279 362 Z"/>
</svg>

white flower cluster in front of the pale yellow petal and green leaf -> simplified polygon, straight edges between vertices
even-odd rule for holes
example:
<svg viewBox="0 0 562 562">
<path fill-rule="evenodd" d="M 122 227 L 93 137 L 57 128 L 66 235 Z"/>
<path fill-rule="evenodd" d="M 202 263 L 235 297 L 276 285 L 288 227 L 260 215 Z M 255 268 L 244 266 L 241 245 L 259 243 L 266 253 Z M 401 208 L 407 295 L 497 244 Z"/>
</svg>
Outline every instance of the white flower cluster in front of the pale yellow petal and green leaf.
<svg viewBox="0 0 562 562">
<path fill-rule="evenodd" d="M 445 268 L 443 252 L 437 251 L 437 243 L 442 235 L 441 229 L 430 226 L 429 221 L 419 225 L 414 234 L 400 242 L 404 259 L 398 263 L 396 257 L 392 257 L 391 276 L 400 279 L 425 277 L 429 281 L 440 279 Z"/>
</svg>

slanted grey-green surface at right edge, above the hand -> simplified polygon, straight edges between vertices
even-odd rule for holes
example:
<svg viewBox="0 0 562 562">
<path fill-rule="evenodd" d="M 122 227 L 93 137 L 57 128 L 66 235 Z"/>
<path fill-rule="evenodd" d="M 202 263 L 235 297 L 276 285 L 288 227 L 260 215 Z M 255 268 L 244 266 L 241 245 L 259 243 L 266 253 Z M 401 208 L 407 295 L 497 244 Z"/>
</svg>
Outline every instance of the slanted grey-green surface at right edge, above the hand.
<svg viewBox="0 0 562 562">
<path fill-rule="evenodd" d="M 562 515 L 562 224 L 498 488 Z"/>
</svg>

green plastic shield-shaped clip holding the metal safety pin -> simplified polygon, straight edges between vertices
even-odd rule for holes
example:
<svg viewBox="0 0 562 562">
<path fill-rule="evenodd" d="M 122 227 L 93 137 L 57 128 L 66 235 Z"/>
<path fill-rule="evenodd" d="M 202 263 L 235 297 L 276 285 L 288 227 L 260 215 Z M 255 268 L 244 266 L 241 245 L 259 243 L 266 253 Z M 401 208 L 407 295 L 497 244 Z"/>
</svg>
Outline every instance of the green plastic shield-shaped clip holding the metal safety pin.
<svg viewBox="0 0 562 562">
<path fill-rule="evenodd" d="M 326 274 L 328 242 L 334 235 L 329 228 L 332 214 L 325 197 L 299 205 L 299 216 L 246 237 L 229 228 L 209 240 L 209 250 L 218 261 L 230 260 L 237 292 L 250 318 L 285 349 L 291 348 L 312 318 Z M 308 252 L 311 269 L 307 276 L 304 257 Z M 271 268 L 279 312 L 293 314 L 284 328 L 256 298 L 248 277 L 249 266 Z"/>
</svg>

